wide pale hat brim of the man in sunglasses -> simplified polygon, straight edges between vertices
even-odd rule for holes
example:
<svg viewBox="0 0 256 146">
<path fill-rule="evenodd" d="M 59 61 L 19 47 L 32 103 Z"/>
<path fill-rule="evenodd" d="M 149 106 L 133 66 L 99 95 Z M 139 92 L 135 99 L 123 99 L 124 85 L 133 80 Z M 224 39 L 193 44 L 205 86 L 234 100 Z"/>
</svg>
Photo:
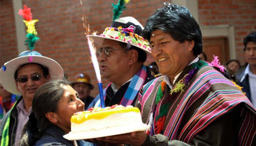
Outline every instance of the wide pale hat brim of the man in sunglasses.
<svg viewBox="0 0 256 146">
<path fill-rule="evenodd" d="M 30 56 L 33 57 L 31 62 L 29 62 Z M 17 57 L 4 64 L 6 68 L 5 71 L 3 70 L 3 67 L 0 69 L 0 82 L 7 91 L 16 95 L 21 95 L 21 93 L 16 89 L 14 73 L 20 65 L 27 63 L 37 63 L 49 68 L 51 80 L 62 79 L 64 77 L 64 72 L 60 64 L 51 58 L 39 55 L 26 55 Z"/>
</svg>

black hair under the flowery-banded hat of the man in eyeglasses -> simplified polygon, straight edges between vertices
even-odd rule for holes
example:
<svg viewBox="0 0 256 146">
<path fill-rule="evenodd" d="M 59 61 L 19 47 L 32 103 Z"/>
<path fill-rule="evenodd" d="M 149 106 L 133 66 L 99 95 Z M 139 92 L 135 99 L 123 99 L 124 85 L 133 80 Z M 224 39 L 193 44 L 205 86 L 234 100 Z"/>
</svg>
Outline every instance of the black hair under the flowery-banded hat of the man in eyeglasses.
<svg viewBox="0 0 256 146">
<path fill-rule="evenodd" d="M 147 53 L 145 51 L 143 51 L 142 49 L 139 49 L 138 47 L 135 47 L 133 45 L 129 45 L 129 43 L 123 43 L 123 42 L 119 42 L 120 46 L 127 50 L 136 50 L 138 52 L 138 62 L 145 62 L 147 59 Z"/>
</svg>

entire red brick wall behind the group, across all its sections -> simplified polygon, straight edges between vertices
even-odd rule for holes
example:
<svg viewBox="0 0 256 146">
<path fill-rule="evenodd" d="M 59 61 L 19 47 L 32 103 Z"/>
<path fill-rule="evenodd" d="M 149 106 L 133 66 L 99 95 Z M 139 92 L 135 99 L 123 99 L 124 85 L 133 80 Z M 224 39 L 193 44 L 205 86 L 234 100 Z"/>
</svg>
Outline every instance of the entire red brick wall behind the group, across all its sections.
<svg viewBox="0 0 256 146">
<path fill-rule="evenodd" d="M 97 95 L 97 80 L 93 65 L 90 63 L 89 50 L 84 35 L 83 14 L 88 17 L 91 29 L 101 33 L 112 22 L 111 4 L 118 0 L 23 0 L 31 7 L 33 19 L 39 19 L 35 28 L 40 41 L 35 50 L 42 55 L 55 59 L 63 66 L 69 78 L 76 73 L 87 73 L 96 86 L 93 96 Z M 121 17 L 133 16 L 144 25 L 147 17 L 168 0 L 131 0 Z M 232 24 L 235 26 L 237 58 L 243 61 L 242 40 L 249 32 L 256 30 L 256 0 L 198 0 L 200 26 Z M 15 58 L 16 32 L 12 0 L 1 0 L 1 62 Z M 103 87 L 108 81 L 103 79 Z"/>
</svg>

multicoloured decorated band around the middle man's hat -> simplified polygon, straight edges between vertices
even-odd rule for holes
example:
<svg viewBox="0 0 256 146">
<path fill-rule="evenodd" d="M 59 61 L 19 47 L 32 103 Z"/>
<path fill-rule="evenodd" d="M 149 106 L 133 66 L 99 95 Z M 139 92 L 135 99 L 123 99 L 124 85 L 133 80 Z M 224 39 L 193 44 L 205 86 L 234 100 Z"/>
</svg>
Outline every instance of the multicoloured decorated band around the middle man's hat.
<svg viewBox="0 0 256 146">
<path fill-rule="evenodd" d="M 107 27 L 103 34 L 100 36 L 131 43 L 132 45 L 138 46 L 146 51 L 151 52 L 148 41 L 138 34 L 133 33 L 134 28 L 134 26 L 129 26 L 128 28 L 122 28 L 121 26 L 118 28 Z"/>
</svg>

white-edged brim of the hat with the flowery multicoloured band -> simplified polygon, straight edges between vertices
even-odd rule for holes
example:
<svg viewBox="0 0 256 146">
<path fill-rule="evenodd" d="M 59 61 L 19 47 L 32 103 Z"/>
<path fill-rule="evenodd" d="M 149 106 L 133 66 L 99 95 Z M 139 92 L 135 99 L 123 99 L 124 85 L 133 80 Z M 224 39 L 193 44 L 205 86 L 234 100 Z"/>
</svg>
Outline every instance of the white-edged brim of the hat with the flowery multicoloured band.
<svg viewBox="0 0 256 146">
<path fill-rule="evenodd" d="M 118 41 L 118 42 L 123 42 L 123 43 L 127 43 L 125 41 L 122 41 L 120 39 L 115 39 L 115 38 L 109 38 L 109 37 L 103 37 L 103 36 L 99 36 L 99 35 L 87 35 L 86 37 L 91 37 L 93 39 L 93 42 L 99 46 L 101 46 L 103 44 L 104 39 L 109 39 L 109 40 L 113 40 L 113 41 Z M 132 46 L 138 47 L 139 49 L 142 49 L 143 51 L 145 51 L 147 53 L 147 55 L 151 55 L 151 50 L 147 50 L 144 49 L 143 47 L 139 47 L 137 45 L 134 45 L 131 43 Z"/>
</svg>

